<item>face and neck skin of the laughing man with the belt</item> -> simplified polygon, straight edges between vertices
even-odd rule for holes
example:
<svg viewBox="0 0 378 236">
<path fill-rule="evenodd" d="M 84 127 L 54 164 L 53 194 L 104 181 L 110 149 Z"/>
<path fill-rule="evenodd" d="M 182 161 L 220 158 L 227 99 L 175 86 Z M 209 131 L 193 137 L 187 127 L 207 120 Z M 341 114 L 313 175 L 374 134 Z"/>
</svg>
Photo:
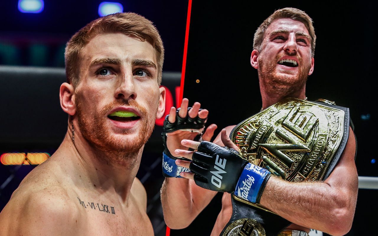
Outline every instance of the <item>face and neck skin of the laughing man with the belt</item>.
<svg viewBox="0 0 378 236">
<path fill-rule="evenodd" d="M 275 34 L 277 31 L 287 33 Z M 305 25 L 292 19 L 278 19 L 266 29 L 262 48 L 253 50 L 251 65 L 259 74 L 262 106 L 266 108 L 285 97 L 305 98 L 307 77 L 314 71 L 310 37 Z M 297 67 L 279 65 L 282 59 L 293 59 Z"/>
</svg>

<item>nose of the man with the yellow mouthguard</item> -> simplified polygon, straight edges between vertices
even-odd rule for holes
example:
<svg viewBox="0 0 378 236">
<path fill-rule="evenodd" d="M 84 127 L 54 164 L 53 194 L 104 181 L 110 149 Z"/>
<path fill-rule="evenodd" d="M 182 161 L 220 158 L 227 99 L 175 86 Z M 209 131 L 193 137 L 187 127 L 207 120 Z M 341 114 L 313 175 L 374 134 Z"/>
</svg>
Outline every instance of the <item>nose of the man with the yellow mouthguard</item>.
<svg viewBox="0 0 378 236">
<path fill-rule="evenodd" d="M 114 97 L 116 99 L 136 99 L 135 81 L 132 72 L 125 72 L 119 78 Z"/>
</svg>

